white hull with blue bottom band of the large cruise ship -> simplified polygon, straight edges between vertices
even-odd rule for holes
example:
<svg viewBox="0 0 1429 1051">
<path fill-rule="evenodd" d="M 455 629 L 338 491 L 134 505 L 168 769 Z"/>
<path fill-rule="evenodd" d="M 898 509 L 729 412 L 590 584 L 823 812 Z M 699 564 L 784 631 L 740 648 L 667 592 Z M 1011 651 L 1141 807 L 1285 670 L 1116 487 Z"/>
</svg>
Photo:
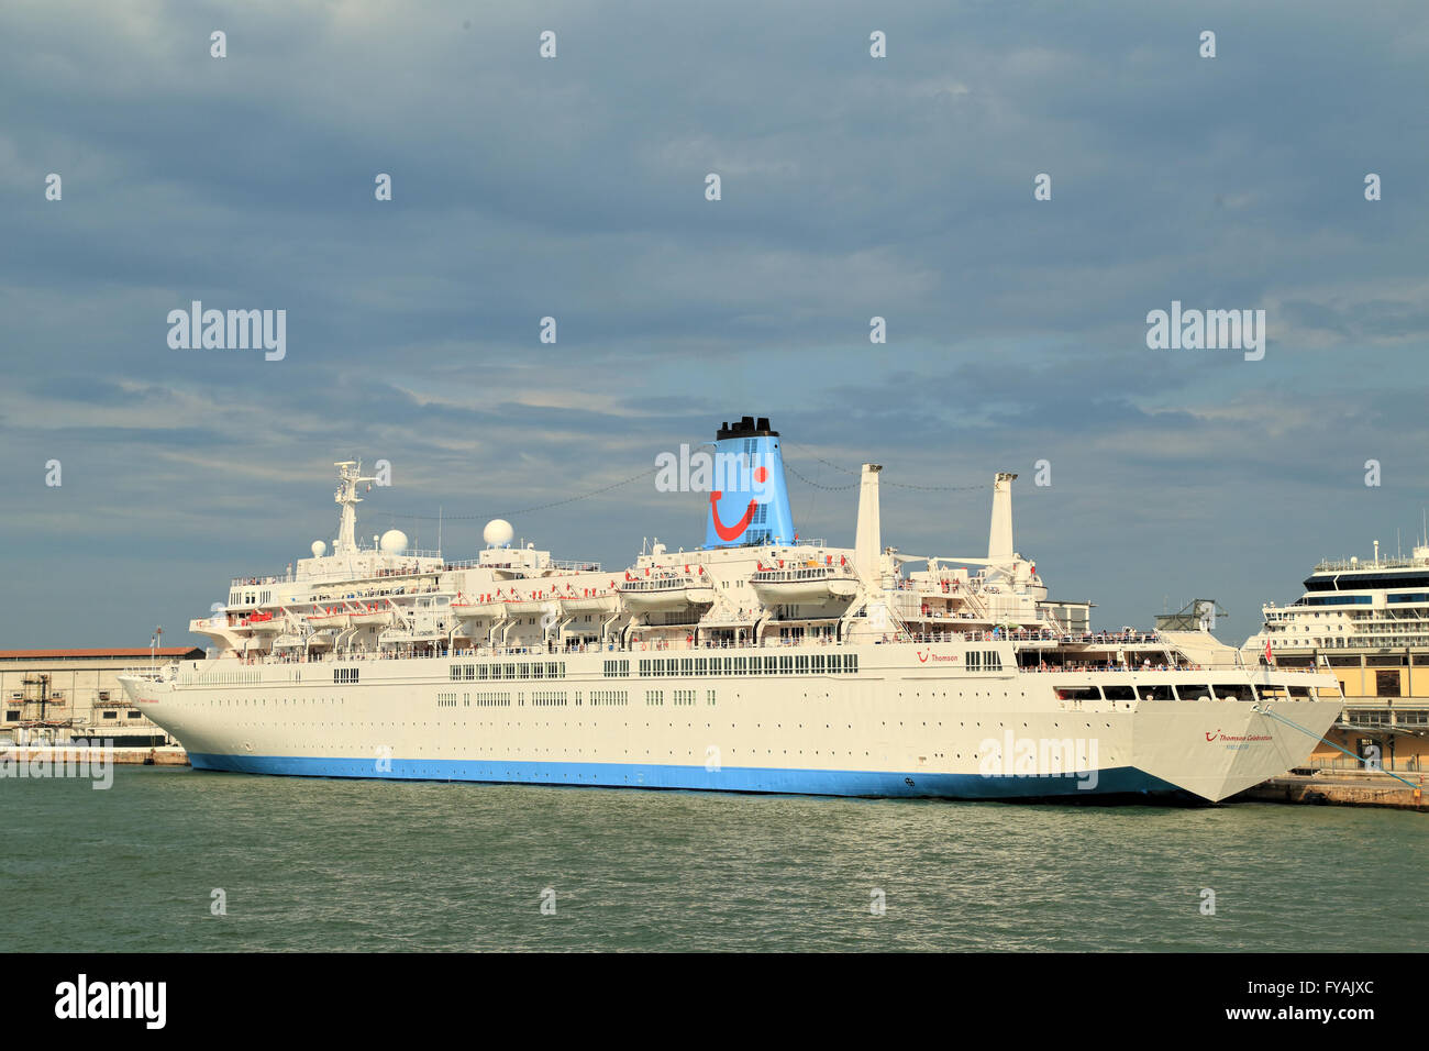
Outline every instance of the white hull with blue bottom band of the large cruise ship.
<svg viewBox="0 0 1429 1051">
<path fill-rule="evenodd" d="M 1219 801 L 1303 761 L 1340 709 L 1338 699 L 1060 701 L 1067 684 L 1177 675 L 1010 671 L 1010 648 L 1009 671 L 939 666 L 956 665 L 959 649 L 827 648 L 856 671 L 677 678 L 642 675 L 643 655 L 629 651 L 227 659 L 180 665 L 166 681 L 126 678 L 124 688 L 197 769 L 953 799 Z M 662 655 L 726 652 L 819 648 Z M 607 673 L 609 662 L 629 673 Z M 534 663 L 546 678 L 464 678 L 467 666 Z"/>
</svg>

